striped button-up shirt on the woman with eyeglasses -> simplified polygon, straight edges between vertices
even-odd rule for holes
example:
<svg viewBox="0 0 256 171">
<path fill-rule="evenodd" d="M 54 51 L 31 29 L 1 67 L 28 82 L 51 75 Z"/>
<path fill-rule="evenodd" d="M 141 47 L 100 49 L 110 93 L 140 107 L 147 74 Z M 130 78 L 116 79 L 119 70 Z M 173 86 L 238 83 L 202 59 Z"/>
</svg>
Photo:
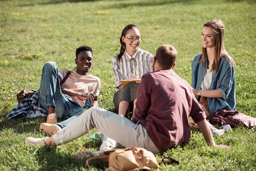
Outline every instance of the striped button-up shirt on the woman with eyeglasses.
<svg viewBox="0 0 256 171">
<path fill-rule="evenodd" d="M 133 56 L 125 51 L 120 60 L 117 60 L 117 55 L 112 59 L 116 88 L 121 85 L 120 80 L 129 80 L 131 74 L 141 79 L 144 74 L 153 71 L 153 55 L 147 51 L 138 48 Z"/>
</svg>

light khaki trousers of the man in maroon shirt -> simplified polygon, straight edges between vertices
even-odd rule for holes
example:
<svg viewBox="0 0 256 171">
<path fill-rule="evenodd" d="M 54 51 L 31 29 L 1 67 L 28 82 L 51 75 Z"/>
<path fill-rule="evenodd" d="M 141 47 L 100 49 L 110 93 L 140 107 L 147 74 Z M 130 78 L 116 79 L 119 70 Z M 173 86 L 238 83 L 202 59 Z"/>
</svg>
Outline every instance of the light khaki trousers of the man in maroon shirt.
<svg viewBox="0 0 256 171">
<path fill-rule="evenodd" d="M 96 107 L 83 112 L 67 127 L 56 133 L 53 138 L 57 145 L 66 144 L 85 135 L 93 128 L 124 146 L 142 147 L 153 153 L 160 152 L 143 125 L 132 123 L 125 117 Z"/>
</svg>

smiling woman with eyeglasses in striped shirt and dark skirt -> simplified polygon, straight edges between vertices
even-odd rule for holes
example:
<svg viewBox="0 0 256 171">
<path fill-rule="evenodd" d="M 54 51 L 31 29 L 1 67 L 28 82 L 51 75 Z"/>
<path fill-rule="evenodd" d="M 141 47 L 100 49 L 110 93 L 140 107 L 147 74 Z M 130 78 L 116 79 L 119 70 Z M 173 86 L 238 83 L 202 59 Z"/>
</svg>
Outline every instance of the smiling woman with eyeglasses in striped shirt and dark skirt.
<svg viewBox="0 0 256 171">
<path fill-rule="evenodd" d="M 139 28 L 127 25 L 121 33 L 120 53 L 112 59 L 115 87 L 119 89 L 113 97 L 113 103 L 121 116 L 125 116 L 132 102 L 134 112 L 139 82 L 128 83 L 123 87 L 120 80 L 141 79 L 144 74 L 153 71 L 153 55 L 139 48 L 141 40 Z"/>
</svg>

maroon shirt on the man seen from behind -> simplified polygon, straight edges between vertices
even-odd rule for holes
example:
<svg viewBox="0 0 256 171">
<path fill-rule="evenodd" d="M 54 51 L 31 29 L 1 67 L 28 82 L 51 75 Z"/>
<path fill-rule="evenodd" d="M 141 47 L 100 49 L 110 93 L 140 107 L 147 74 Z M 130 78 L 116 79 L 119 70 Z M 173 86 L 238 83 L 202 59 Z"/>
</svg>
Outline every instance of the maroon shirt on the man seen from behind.
<svg viewBox="0 0 256 171">
<path fill-rule="evenodd" d="M 190 138 L 189 116 L 205 119 L 192 87 L 172 69 L 145 74 L 137 89 L 133 123 L 147 127 L 149 137 L 162 152 Z"/>
</svg>

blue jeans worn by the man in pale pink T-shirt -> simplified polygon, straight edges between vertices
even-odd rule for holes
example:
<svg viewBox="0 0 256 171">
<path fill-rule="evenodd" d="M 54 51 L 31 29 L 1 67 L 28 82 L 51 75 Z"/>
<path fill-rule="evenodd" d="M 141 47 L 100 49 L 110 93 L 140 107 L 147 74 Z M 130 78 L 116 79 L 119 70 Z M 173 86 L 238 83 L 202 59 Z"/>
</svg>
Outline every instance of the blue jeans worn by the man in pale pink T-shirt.
<svg viewBox="0 0 256 171">
<path fill-rule="evenodd" d="M 38 90 L 38 100 L 46 111 L 48 107 L 55 107 L 57 117 L 62 118 L 64 116 L 70 118 L 69 121 L 76 119 L 81 113 L 86 111 L 79 103 L 76 103 L 70 96 L 64 95 L 60 89 L 58 66 L 55 62 L 47 62 L 43 66 L 43 72 L 40 82 L 40 88 Z M 78 115 L 78 116 L 76 116 Z M 66 127 L 68 123 L 60 124 Z"/>
</svg>

